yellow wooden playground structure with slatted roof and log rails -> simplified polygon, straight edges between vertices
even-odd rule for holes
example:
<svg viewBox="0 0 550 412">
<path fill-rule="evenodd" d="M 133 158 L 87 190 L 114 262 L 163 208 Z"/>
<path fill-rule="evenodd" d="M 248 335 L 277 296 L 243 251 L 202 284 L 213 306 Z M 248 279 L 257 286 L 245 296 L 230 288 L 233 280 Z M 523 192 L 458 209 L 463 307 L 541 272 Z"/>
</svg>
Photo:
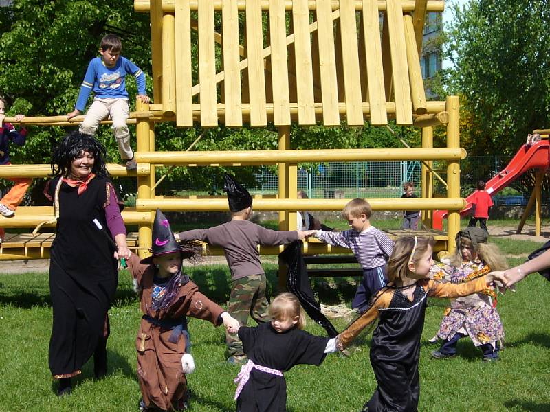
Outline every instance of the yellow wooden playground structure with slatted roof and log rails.
<svg viewBox="0 0 550 412">
<path fill-rule="evenodd" d="M 129 123 L 136 124 L 137 172 L 108 165 L 113 176 L 137 179 L 135 208 L 122 216 L 138 225 L 131 247 L 144 256 L 151 246 L 155 209 L 226 211 L 225 198 L 164 198 L 155 194 L 157 165 L 278 165 L 277 198 L 256 198 L 257 211 L 279 211 L 281 229 L 296 228 L 296 210 L 340 210 L 349 199 L 296 199 L 297 164 L 303 161 L 422 161 L 422 196 L 369 198 L 373 210 L 423 210 L 431 227 L 434 209 L 449 211 L 446 232 L 434 233 L 439 250 L 454 249 L 459 231 L 459 99 L 427 101 L 419 53 L 427 12 L 442 12 L 435 0 L 135 0 L 136 12 L 151 15 L 153 102 L 137 102 Z M 220 32 L 214 22 L 221 22 Z M 381 30 L 382 29 L 382 30 Z M 218 28 L 219 30 L 219 28 Z M 193 41 L 192 41 L 193 39 Z M 198 67 L 193 67 L 197 47 Z M 25 124 L 66 125 L 65 116 L 25 117 Z M 290 150 L 291 124 L 362 126 L 364 122 L 421 128 L 421 148 Z M 6 122 L 15 122 L 6 118 Z M 232 152 L 157 152 L 155 124 L 180 127 L 225 124 L 278 128 L 278 150 Z M 106 121 L 105 123 L 108 123 Z M 433 126 L 446 127 L 446 147 L 434 148 Z M 446 179 L 432 170 L 446 161 Z M 49 165 L 3 165 L 0 178 L 44 177 Z M 432 197 L 432 181 L 442 181 L 447 196 Z M 53 217 L 53 207 L 19 207 L 1 226 L 34 228 Z M 394 233 L 395 234 L 395 233 Z M 47 258 L 51 233 L 12 235 L 1 244 L 2 260 Z M 263 248 L 276 254 L 280 248 Z M 308 242 L 305 253 L 348 253 Z M 221 251 L 211 251 L 221 253 Z"/>
</svg>

